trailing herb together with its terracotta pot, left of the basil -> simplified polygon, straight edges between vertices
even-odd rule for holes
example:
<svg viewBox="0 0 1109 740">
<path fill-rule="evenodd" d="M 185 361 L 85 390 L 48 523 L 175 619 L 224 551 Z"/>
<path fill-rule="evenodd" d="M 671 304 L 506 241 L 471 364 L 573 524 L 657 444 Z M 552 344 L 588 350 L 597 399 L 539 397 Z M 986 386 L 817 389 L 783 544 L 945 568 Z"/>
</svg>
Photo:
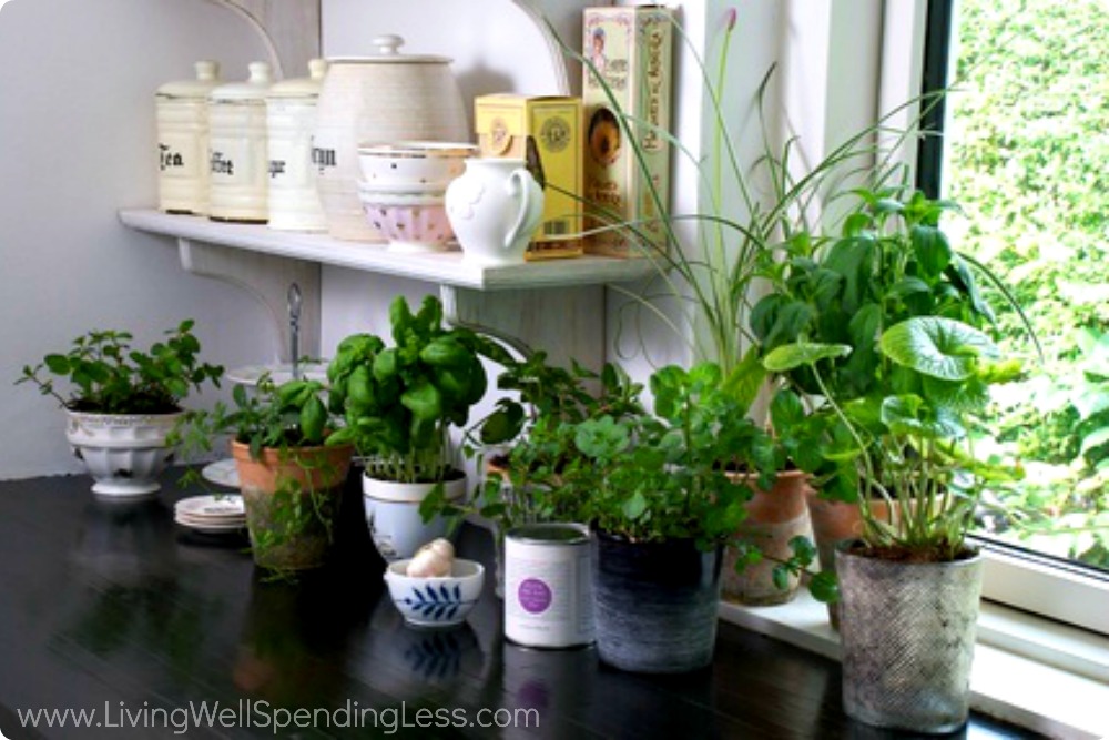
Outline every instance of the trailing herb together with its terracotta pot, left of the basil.
<svg viewBox="0 0 1109 740">
<path fill-rule="evenodd" d="M 190 412 L 175 432 L 186 449 L 231 435 L 254 561 L 277 574 L 324 565 L 334 540 L 354 446 L 326 444 L 336 424 L 324 393 L 319 381 L 264 375 L 253 392 L 235 386 L 234 408 Z"/>
</svg>

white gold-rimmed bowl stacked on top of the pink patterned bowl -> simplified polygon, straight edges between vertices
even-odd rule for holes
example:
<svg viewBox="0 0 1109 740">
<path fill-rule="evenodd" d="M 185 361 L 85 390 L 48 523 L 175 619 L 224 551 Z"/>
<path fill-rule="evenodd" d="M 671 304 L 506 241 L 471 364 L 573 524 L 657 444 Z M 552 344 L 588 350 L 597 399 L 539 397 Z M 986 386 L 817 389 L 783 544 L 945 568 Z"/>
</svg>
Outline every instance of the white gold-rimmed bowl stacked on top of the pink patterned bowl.
<svg viewBox="0 0 1109 740">
<path fill-rule="evenodd" d="M 474 144 L 439 141 L 401 141 L 358 146 L 363 180 L 373 185 L 429 185 L 445 189 L 466 170 L 466 159 L 477 156 Z"/>
</svg>

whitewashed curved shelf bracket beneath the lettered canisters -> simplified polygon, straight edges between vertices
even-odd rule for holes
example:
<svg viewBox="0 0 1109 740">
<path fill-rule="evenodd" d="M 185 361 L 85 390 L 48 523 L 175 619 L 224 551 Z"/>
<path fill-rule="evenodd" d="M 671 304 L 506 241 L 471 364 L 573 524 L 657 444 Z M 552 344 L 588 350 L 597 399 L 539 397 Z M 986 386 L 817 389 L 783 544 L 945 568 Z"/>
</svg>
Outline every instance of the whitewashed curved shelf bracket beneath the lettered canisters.
<svg viewBox="0 0 1109 740">
<path fill-rule="evenodd" d="M 319 356 L 319 264 L 304 260 L 246 252 L 217 244 L 177 237 L 181 266 L 201 277 L 212 277 L 246 291 L 262 303 L 269 318 L 278 362 L 289 356 L 288 286 L 296 283 L 303 296 L 299 351 Z"/>
</svg>

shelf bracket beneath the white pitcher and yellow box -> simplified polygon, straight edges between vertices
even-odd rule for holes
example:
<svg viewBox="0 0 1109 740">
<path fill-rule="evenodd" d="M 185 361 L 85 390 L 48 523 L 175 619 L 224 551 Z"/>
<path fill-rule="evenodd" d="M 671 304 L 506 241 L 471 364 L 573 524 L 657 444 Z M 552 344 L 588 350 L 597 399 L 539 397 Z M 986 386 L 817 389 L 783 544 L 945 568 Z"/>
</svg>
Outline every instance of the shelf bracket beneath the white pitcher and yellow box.
<svg viewBox="0 0 1109 740">
<path fill-rule="evenodd" d="M 439 286 L 444 317 L 452 326 L 488 334 L 517 354 L 543 348 L 548 361 L 593 371 L 604 364 L 604 286 L 546 291 L 471 291 Z"/>
</svg>

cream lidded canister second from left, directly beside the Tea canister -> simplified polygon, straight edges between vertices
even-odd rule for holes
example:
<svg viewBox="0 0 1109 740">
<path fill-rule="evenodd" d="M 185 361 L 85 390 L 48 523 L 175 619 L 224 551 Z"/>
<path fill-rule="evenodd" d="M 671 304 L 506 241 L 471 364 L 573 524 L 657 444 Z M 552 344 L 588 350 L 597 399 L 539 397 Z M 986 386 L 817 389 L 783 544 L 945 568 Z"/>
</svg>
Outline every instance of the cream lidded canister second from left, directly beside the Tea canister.
<svg viewBox="0 0 1109 740">
<path fill-rule="evenodd" d="M 245 82 L 223 84 L 208 95 L 208 217 L 265 223 L 269 217 L 269 151 L 266 94 L 269 64 L 251 62 Z"/>
</svg>

